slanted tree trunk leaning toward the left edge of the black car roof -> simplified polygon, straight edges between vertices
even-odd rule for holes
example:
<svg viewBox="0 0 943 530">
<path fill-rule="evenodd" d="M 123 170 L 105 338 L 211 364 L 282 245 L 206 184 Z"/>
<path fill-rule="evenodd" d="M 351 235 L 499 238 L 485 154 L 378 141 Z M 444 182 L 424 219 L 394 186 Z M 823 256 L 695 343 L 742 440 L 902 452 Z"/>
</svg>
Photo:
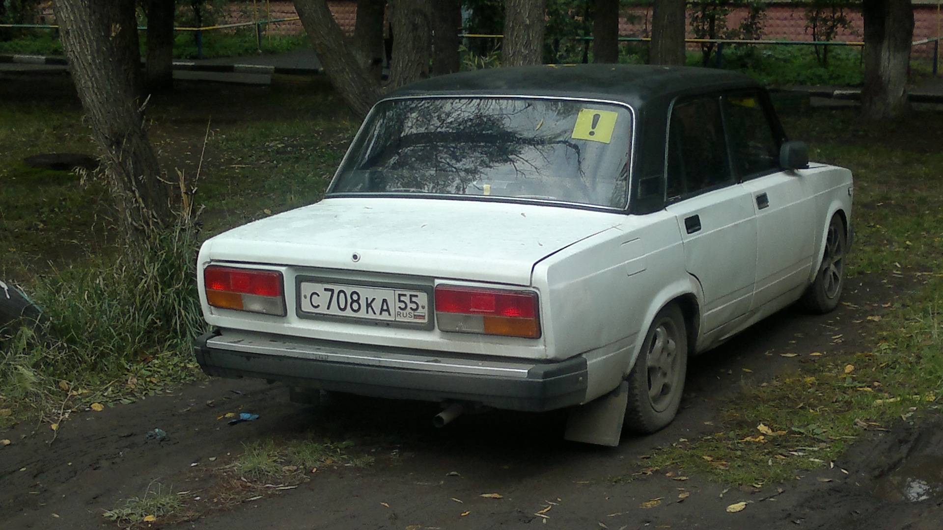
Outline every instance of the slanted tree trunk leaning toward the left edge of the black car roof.
<svg viewBox="0 0 943 530">
<path fill-rule="evenodd" d="M 360 67 L 324 0 L 294 0 L 294 5 L 324 73 L 351 110 L 361 118 L 366 116 L 380 97 L 379 81 Z"/>
</svg>

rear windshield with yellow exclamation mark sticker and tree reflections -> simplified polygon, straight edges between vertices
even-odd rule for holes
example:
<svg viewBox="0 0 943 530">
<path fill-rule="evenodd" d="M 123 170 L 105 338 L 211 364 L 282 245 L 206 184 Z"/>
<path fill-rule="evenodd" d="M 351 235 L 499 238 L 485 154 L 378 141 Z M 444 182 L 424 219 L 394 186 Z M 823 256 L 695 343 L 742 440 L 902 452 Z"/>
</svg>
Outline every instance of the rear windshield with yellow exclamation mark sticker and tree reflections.
<svg viewBox="0 0 943 530">
<path fill-rule="evenodd" d="M 557 99 L 416 98 L 376 106 L 328 191 L 625 207 L 632 114 Z"/>
</svg>

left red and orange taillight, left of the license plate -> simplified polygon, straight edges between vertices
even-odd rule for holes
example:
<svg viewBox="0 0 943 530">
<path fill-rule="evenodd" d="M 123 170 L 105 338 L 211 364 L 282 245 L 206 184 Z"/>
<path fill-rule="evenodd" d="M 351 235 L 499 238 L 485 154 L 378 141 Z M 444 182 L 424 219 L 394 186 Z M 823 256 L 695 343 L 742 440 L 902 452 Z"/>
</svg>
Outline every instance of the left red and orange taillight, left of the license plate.
<svg viewBox="0 0 943 530">
<path fill-rule="evenodd" d="M 203 280 L 210 306 L 285 316 L 282 273 L 210 265 Z"/>
</svg>

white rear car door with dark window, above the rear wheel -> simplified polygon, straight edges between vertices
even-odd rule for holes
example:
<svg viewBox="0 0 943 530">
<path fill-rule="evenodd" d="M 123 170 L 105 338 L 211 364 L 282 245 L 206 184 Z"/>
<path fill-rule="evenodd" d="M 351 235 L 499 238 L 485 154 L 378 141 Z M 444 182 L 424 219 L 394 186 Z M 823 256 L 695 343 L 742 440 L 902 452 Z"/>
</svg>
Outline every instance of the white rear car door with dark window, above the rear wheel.
<svg viewBox="0 0 943 530">
<path fill-rule="evenodd" d="M 701 284 L 702 331 L 710 333 L 750 310 L 756 267 L 753 195 L 734 178 L 719 96 L 672 105 L 666 164 L 668 210 L 687 272 Z"/>
</svg>

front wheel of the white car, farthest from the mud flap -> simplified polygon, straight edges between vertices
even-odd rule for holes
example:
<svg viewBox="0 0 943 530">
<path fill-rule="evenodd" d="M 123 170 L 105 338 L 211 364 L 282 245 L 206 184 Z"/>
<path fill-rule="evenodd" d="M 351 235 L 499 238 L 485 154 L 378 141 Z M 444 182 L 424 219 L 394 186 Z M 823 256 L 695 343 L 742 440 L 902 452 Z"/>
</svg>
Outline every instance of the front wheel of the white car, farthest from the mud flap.
<svg viewBox="0 0 943 530">
<path fill-rule="evenodd" d="M 825 252 L 819 263 L 816 279 L 802 294 L 802 306 L 812 312 L 824 314 L 838 306 L 841 290 L 845 286 L 845 256 L 848 254 L 848 231 L 837 215 L 832 217 L 825 234 Z"/>
</svg>

